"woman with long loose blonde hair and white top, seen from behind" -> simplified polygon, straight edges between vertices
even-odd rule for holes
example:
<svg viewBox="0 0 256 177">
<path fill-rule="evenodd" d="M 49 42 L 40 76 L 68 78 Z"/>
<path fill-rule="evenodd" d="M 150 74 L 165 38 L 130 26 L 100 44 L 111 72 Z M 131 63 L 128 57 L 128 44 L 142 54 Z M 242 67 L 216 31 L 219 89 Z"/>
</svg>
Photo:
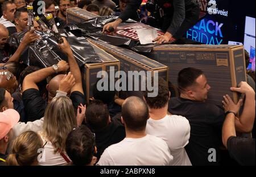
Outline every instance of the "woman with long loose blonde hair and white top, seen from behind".
<svg viewBox="0 0 256 177">
<path fill-rule="evenodd" d="M 39 133 L 46 144 L 39 165 L 65 165 L 70 162 L 65 153 L 65 141 L 76 127 L 77 120 L 71 99 L 67 96 L 53 98 L 44 112 L 43 131 Z"/>
</svg>

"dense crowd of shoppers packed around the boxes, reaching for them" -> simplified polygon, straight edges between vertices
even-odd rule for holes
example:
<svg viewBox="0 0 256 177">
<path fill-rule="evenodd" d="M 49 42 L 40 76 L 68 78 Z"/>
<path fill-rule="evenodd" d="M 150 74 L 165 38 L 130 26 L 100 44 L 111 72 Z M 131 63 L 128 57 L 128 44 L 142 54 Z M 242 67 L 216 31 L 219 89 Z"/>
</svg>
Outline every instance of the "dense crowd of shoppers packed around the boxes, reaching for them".
<svg viewBox="0 0 256 177">
<path fill-rule="evenodd" d="M 142 98 L 121 99 L 115 91 L 99 91 L 96 83 L 86 103 L 81 71 L 65 38 L 59 48 L 67 61 L 43 69 L 20 60 L 40 37 L 34 31 L 26 32 L 18 48 L 9 45 L 11 35 L 27 30 L 26 5 L 35 1 L 0 0 L 0 165 L 255 165 L 253 78 L 250 85 L 230 88 L 243 96 L 234 103 L 223 95 L 223 107 L 207 102 L 210 85 L 196 68 L 180 70 L 177 96 L 159 77 L 154 98 L 146 90 Z M 130 1 L 45 2 L 46 14 L 63 28 L 69 7 L 120 15 Z M 34 27 L 42 30 L 35 20 Z"/>
</svg>

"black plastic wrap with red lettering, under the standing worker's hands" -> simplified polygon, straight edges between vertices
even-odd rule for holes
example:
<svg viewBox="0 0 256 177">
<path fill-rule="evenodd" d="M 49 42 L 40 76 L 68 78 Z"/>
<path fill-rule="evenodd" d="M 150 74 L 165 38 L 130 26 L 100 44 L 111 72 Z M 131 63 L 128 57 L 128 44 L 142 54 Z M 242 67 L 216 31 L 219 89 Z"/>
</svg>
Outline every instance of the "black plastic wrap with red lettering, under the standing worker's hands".
<svg viewBox="0 0 256 177">
<path fill-rule="evenodd" d="M 155 29 L 143 23 L 134 20 L 127 20 L 125 23 L 119 24 L 115 32 L 106 34 L 102 33 L 102 29 L 106 23 L 113 22 L 117 16 L 100 16 L 97 18 L 86 20 L 79 24 L 71 24 L 67 26 L 67 30 L 76 36 L 91 37 L 94 40 L 104 41 L 115 46 L 128 47 L 136 52 L 151 52 L 152 48 L 157 44 L 141 45 L 135 29 Z M 163 31 L 156 29 L 159 35 L 163 35 Z"/>
</svg>

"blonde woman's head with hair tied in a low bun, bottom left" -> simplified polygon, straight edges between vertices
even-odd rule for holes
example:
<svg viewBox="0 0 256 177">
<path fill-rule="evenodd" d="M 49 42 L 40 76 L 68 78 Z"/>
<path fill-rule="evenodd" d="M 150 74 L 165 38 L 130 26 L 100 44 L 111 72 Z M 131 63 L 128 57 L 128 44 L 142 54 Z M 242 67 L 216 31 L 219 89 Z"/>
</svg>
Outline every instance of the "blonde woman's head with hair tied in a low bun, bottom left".
<svg viewBox="0 0 256 177">
<path fill-rule="evenodd" d="M 40 136 L 32 131 L 20 134 L 14 141 L 13 154 L 6 159 L 6 165 L 34 166 L 38 165 L 38 155 L 43 141 Z"/>
</svg>

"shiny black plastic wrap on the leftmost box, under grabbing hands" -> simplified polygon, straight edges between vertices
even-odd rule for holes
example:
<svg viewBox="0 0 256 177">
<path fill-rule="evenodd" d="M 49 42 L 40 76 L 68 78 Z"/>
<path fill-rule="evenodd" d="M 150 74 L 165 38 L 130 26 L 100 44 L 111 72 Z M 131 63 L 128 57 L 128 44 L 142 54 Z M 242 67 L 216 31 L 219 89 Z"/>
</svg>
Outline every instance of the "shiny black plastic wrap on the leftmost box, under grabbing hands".
<svg viewBox="0 0 256 177">
<path fill-rule="evenodd" d="M 67 61 L 67 55 L 61 52 L 54 36 L 48 32 L 35 31 L 41 39 L 31 43 L 20 56 L 20 60 L 28 66 L 46 68 L 57 64 L 60 60 Z M 20 41 L 26 32 L 14 33 L 9 39 L 9 45 L 18 48 Z M 70 32 L 63 31 L 62 36 L 67 37 L 77 64 L 101 62 L 100 57 L 84 37 L 76 37 Z"/>
</svg>

